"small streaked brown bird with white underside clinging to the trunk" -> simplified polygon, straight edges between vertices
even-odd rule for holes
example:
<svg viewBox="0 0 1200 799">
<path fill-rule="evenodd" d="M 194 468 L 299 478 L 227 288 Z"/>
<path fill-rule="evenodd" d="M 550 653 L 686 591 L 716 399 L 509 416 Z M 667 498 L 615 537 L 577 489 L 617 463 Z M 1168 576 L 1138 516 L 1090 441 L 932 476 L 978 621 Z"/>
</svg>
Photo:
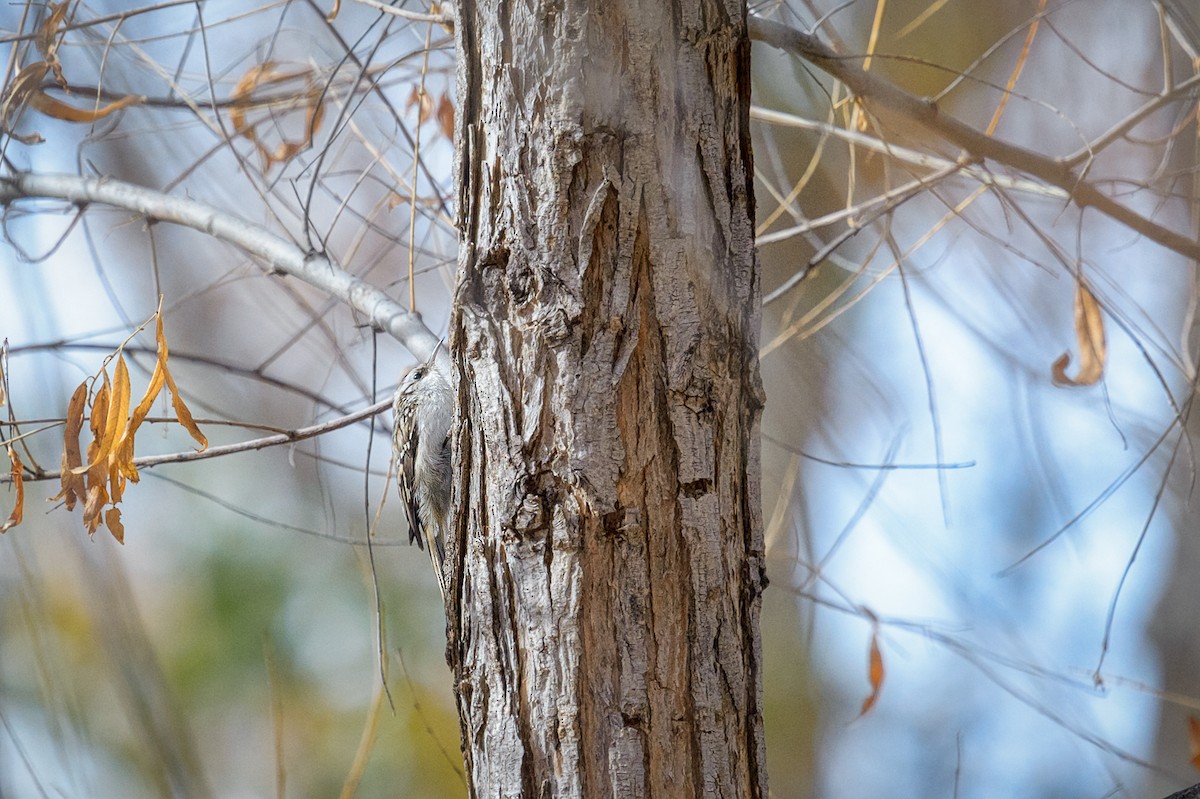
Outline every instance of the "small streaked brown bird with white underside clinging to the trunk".
<svg viewBox="0 0 1200 799">
<path fill-rule="evenodd" d="M 454 391 L 434 364 L 418 364 L 396 389 L 392 452 L 396 487 L 408 516 L 408 542 L 427 549 L 445 600 L 445 527 L 450 510 L 450 420 Z"/>
</svg>

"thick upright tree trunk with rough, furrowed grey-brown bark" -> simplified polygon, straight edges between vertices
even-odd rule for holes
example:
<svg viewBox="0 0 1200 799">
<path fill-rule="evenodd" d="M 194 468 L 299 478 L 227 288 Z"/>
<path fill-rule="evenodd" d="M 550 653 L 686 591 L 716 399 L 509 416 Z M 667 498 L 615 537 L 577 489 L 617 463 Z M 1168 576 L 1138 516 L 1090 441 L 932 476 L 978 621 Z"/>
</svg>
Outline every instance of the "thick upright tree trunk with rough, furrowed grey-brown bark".
<svg viewBox="0 0 1200 799">
<path fill-rule="evenodd" d="M 764 797 L 744 0 L 463 0 L 448 657 L 474 797 Z"/>
</svg>

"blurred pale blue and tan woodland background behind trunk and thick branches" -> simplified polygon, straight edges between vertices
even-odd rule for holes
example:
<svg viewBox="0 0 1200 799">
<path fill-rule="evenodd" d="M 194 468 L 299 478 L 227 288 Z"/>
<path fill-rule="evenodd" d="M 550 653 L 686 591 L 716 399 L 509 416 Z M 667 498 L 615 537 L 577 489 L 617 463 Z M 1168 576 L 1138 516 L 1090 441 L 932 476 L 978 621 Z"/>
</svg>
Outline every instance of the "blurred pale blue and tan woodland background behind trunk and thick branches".
<svg viewBox="0 0 1200 799">
<path fill-rule="evenodd" d="M 334 19 L 300 0 L 132 5 L 0 7 L 4 168 L 202 199 L 406 304 L 412 290 L 444 332 L 446 28 L 356 1 Z M 942 114 L 1074 158 L 1195 241 L 1192 2 L 751 11 L 870 55 Z M 47 73 L 41 96 L 77 112 L 18 113 L 11 86 L 48 48 L 70 91 Z M 1195 264 L 1062 188 L 958 162 L 763 43 L 752 80 L 772 795 L 1159 797 L 1200 781 Z M 58 468 L 72 391 L 160 295 L 172 373 L 212 444 L 344 416 L 412 362 L 199 233 L 49 202 L 2 222 L 0 414 L 20 423 L 0 431 L 32 433 L 26 476 Z M 154 349 L 152 328 L 126 346 L 134 397 Z M 89 537 L 56 482 L 28 481 L 23 523 L 0 535 L 0 797 L 464 795 L 440 603 L 388 482 L 390 423 L 145 469 L 124 546 Z M 192 446 L 175 423 L 137 441 Z M 0 518 L 14 501 L 0 485 Z"/>
</svg>

